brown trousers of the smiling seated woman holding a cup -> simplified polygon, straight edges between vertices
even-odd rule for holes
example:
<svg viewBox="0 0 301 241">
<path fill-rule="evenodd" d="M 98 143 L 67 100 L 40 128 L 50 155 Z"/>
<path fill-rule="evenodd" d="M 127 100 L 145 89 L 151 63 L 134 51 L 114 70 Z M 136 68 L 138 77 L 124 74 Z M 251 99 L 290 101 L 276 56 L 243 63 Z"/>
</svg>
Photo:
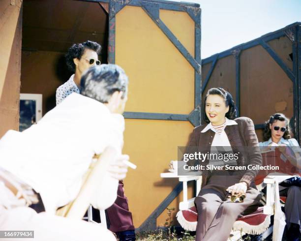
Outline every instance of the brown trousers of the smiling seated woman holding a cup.
<svg viewBox="0 0 301 241">
<path fill-rule="evenodd" d="M 252 183 L 242 203 L 227 199 L 226 189 L 238 183 L 238 176 L 211 176 L 195 199 L 198 211 L 196 241 L 227 241 L 234 222 L 244 214 L 256 211 L 261 194 Z"/>
</svg>

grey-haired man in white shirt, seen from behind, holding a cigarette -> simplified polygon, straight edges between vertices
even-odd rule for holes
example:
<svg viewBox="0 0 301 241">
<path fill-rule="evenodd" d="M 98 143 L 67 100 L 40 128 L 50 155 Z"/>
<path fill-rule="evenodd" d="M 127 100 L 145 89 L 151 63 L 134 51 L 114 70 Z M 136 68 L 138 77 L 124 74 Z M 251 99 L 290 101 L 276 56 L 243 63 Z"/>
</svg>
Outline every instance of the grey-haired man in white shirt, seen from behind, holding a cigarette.
<svg viewBox="0 0 301 241">
<path fill-rule="evenodd" d="M 116 240 L 81 218 L 90 204 L 110 207 L 126 176 L 121 114 L 127 85 L 119 66 L 93 66 L 81 78 L 81 94 L 68 95 L 37 124 L 21 133 L 9 130 L 0 139 L 0 230 L 33 230 L 37 241 Z M 55 215 L 74 200 L 70 218 Z M 32 205 L 45 211 L 37 213 Z"/>
</svg>

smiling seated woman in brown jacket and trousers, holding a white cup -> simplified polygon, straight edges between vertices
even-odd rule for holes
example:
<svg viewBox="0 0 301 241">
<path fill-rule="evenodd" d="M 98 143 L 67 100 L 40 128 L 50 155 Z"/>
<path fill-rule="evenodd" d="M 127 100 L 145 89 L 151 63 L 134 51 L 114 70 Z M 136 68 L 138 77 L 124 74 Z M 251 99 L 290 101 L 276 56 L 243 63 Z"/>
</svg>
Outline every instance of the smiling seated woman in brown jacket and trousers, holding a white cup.
<svg viewBox="0 0 301 241">
<path fill-rule="evenodd" d="M 195 199 L 198 212 L 196 241 L 226 241 L 241 212 L 247 214 L 260 206 L 261 195 L 253 181 L 258 171 L 246 167 L 261 165 L 262 156 L 253 121 L 246 117 L 236 118 L 236 106 L 228 91 L 212 88 L 204 103 L 204 120 L 208 124 L 193 130 L 188 147 L 210 153 L 227 149 L 227 152 L 239 154 L 239 158 L 232 160 L 232 170 L 226 168 L 230 161 L 225 158 L 217 162 L 219 172 L 207 169 L 212 166 L 208 164 L 216 164 L 214 160 L 203 162 L 202 188 Z M 243 148 L 247 151 L 238 151 Z M 244 167 L 245 171 L 238 170 Z M 231 194 L 245 195 L 245 198 L 243 202 L 232 202 Z"/>
</svg>

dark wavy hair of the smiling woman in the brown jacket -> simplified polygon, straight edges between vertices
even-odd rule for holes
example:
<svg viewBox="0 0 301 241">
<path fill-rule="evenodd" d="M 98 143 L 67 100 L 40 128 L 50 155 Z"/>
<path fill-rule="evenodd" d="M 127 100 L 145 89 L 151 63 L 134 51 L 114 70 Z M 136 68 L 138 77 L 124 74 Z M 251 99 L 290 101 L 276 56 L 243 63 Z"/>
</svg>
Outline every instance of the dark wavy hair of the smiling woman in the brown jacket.
<svg viewBox="0 0 301 241">
<path fill-rule="evenodd" d="M 224 90 L 223 88 L 211 88 L 210 90 L 208 90 L 204 100 L 204 121 L 206 123 L 210 123 L 206 115 L 206 100 L 208 95 L 210 94 L 217 94 L 224 99 L 226 107 L 229 106 L 229 111 L 226 113 L 226 117 L 229 120 L 234 120 L 237 117 L 236 105 L 234 103 L 232 95 L 228 91 Z"/>
</svg>

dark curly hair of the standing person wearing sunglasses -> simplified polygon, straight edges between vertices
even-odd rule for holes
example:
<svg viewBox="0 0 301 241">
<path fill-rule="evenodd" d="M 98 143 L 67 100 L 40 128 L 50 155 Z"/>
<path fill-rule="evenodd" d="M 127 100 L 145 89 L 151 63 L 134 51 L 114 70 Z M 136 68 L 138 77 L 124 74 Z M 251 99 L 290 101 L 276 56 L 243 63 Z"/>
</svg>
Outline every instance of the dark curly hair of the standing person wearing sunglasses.
<svg viewBox="0 0 301 241">
<path fill-rule="evenodd" d="M 83 54 L 85 53 L 86 49 L 93 50 L 97 53 L 97 55 L 100 54 L 101 46 L 99 43 L 87 40 L 84 43 L 76 43 L 73 44 L 69 49 L 68 53 L 65 55 L 66 58 L 66 64 L 68 66 L 68 69 L 74 73 L 75 72 L 75 64 L 73 59 L 81 59 Z"/>
</svg>

